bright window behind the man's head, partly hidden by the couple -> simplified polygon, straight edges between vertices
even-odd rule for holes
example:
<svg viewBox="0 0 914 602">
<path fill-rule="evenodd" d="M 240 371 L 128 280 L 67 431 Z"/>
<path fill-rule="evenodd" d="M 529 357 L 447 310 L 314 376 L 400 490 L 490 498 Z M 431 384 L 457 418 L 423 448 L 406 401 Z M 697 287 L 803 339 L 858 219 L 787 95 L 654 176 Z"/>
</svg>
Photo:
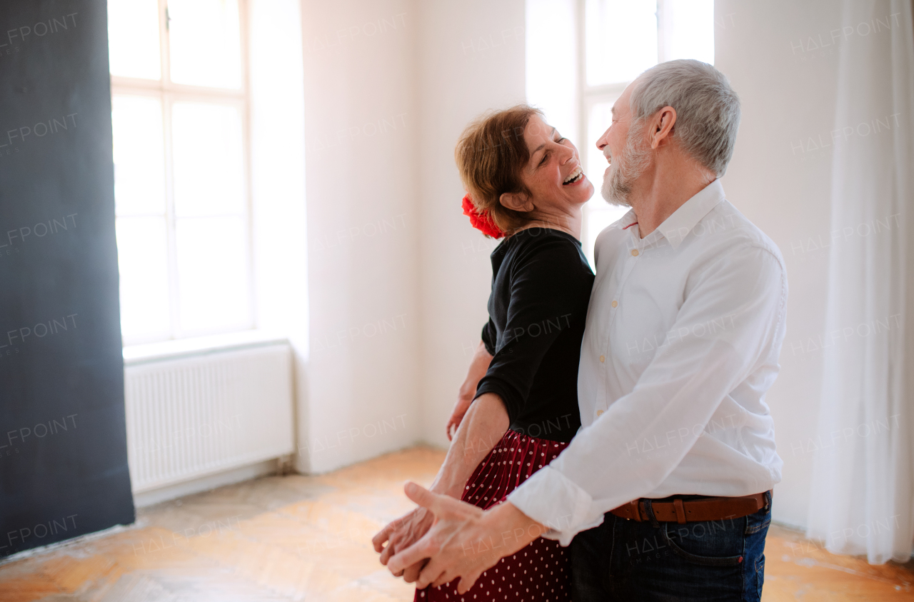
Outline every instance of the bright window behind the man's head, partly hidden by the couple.
<svg viewBox="0 0 914 602">
<path fill-rule="evenodd" d="M 628 208 L 600 195 L 606 159 L 596 143 L 609 127 L 612 104 L 644 69 L 675 58 L 714 63 L 713 0 L 579 0 L 579 141 L 586 173 L 598 188 L 584 209 L 582 242 L 593 264 L 600 231 Z"/>
</svg>

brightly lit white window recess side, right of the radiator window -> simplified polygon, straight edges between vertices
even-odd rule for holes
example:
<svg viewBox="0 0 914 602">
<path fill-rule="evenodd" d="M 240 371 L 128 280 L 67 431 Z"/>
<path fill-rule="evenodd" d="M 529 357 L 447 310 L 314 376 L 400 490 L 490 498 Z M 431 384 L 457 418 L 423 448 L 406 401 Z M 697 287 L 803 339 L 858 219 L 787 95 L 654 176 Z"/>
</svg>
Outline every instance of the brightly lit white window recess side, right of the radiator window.
<svg viewBox="0 0 914 602">
<path fill-rule="evenodd" d="M 254 306 L 260 329 L 289 338 L 302 374 L 309 345 L 299 3 L 250 0 L 248 10 Z M 295 398 L 303 399 L 298 380 Z"/>
</svg>

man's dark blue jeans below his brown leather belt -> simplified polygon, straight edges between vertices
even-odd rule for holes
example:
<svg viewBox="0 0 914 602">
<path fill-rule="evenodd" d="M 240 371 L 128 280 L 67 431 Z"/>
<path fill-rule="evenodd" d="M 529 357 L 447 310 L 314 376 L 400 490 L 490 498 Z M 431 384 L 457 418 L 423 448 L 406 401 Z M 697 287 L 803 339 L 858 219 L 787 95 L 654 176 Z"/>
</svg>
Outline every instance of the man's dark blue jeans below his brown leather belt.
<svg viewBox="0 0 914 602">
<path fill-rule="evenodd" d="M 749 516 L 704 523 L 637 523 L 607 512 L 571 542 L 572 599 L 758 602 L 771 523 L 766 499 Z"/>
</svg>

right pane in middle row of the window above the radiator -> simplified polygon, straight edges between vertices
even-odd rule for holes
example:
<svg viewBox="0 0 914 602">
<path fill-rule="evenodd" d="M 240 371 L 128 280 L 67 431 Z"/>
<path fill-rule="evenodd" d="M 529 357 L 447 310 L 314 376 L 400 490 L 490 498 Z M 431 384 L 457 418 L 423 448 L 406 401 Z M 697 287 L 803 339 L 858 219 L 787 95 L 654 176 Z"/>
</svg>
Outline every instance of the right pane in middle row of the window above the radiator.
<svg viewBox="0 0 914 602">
<path fill-rule="evenodd" d="M 235 107 L 175 102 L 175 215 L 244 211 L 241 113 Z"/>
</svg>

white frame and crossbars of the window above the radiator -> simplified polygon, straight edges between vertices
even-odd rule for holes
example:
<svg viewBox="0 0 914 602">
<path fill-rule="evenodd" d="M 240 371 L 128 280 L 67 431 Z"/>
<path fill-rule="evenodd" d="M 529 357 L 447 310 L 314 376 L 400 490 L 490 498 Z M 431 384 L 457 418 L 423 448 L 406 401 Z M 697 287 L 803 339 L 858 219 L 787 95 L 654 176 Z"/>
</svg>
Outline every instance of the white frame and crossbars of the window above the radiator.
<svg viewBox="0 0 914 602">
<path fill-rule="evenodd" d="M 256 327 L 254 316 L 257 315 L 253 294 L 253 248 L 251 231 L 251 185 L 250 185 L 250 73 L 248 58 L 248 3 L 238 0 L 239 37 L 241 53 L 241 86 L 238 90 L 188 86 L 171 81 L 171 48 L 168 35 L 168 0 L 158 0 L 159 16 L 159 52 L 161 73 L 160 79 L 125 78 L 111 76 L 112 101 L 114 96 L 138 96 L 160 100 L 162 105 L 163 143 L 165 147 L 165 230 L 168 245 L 168 301 L 169 301 L 169 335 L 167 340 L 183 339 L 188 336 L 217 334 L 212 332 L 185 332 L 181 329 L 178 316 L 178 278 L 177 252 L 175 241 L 175 178 L 174 153 L 172 144 L 172 107 L 175 102 L 198 101 L 209 104 L 221 104 L 239 109 L 241 115 L 242 145 L 242 195 L 244 200 L 244 232 L 242 244 L 247 256 L 245 278 L 248 282 L 249 315 L 248 326 L 241 331 Z M 156 214 L 159 215 L 159 214 Z M 222 333 L 222 332 L 218 332 Z M 163 339 L 131 341 L 137 343 L 157 343 Z"/>
</svg>

